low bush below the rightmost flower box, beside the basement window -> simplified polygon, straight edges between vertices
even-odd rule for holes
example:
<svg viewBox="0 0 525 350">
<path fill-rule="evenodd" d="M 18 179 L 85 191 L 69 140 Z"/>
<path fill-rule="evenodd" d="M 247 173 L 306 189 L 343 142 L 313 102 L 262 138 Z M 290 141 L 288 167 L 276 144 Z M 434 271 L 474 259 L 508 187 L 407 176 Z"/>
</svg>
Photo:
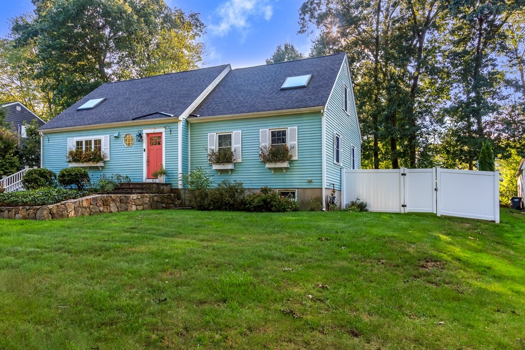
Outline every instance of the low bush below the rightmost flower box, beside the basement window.
<svg viewBox="0 0 525 350">
<path fill-rule="evenodd" d="M 295 199 L 281 197 L 276 190 L 262 187 L 259 193 L 246 196 L 246 210 L 265 213 L 285 213 L 297 211 L 299 205 Z"/>
</svg>

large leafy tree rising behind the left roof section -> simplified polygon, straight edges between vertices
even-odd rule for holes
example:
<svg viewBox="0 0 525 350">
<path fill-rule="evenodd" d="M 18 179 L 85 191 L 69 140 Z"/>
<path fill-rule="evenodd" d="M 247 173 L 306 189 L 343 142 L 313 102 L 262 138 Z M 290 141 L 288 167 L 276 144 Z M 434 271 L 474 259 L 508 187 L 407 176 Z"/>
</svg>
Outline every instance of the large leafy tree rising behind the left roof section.
<svg viewBox="0 0 525 350">
<path fill-rule="evenodd" d="M 204 25 L 164 1 L 35 0 L 13 19 L 17 47 L 35 43 L 36 78 L 58 113 L 100 84 L 196 68 Z"/>
</svg>

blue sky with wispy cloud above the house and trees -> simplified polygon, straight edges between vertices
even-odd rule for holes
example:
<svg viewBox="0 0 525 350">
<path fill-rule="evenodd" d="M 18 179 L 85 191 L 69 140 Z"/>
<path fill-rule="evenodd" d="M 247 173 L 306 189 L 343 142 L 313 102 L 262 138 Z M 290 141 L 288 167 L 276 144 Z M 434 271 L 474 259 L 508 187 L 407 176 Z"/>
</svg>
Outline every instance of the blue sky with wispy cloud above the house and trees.
<svg viewBox="0 0 525 350">
<path fill-rule="evenodd" d="M 232 68 L 264 65 L 285 40 L 307 54 L 311 37 L 298 35 L 303 0 L 164 0 L 185 12 L 201 13 L 207 33 L 204 67 L 230 63 Z M 33 10 L 30 0 L 0 0 L 0 37 L 8 20 Z"/>
</svg>

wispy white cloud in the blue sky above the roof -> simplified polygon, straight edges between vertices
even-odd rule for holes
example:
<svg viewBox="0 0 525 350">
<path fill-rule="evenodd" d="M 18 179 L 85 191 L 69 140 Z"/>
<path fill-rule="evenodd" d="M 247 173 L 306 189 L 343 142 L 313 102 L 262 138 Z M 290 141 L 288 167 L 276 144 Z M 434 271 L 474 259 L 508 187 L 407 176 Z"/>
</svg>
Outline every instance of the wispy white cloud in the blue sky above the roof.
<svg viewBox="0 0 525 350">
<path fill-rule="evenodd" d="M 270 20 L 274 9 L 268 0 L 228 0 L 217 8 L 216 13 L 219 24 L 208 28 L 215 35 L 225 36 L 232 28 L 245 32 L 250 27 L 250 17 Z"/>
</svg>

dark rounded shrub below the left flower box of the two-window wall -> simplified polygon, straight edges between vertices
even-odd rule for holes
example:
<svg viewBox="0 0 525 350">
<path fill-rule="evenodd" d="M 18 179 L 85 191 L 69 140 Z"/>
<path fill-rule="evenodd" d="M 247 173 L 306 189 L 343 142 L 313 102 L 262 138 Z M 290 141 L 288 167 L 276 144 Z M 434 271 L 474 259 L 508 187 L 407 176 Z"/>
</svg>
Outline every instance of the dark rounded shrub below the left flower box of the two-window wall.
<svg viewBox="0 0 525 350">
<path fill-rule="evenodd" d="M 208 190 L 204 205 L 207 210 L 241 211 L 246 206 L 246 189 L 240 181 L 224 180 Z"/>
</svg>

